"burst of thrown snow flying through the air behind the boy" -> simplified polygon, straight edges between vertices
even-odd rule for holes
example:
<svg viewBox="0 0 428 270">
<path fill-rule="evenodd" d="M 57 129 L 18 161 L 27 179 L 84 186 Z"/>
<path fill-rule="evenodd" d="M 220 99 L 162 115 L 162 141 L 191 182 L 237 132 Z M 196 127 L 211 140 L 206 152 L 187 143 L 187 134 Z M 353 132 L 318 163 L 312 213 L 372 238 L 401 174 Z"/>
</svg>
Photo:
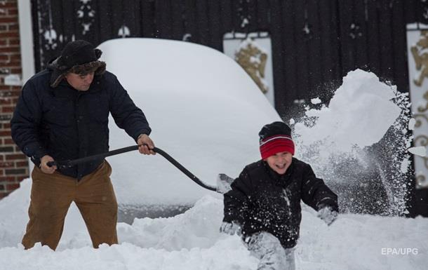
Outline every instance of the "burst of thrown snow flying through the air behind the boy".
<svg viewBox="0 0 428 270">
<path fill-rule="evenodd" d="M 308 107 L 295 123 L 296 155 L 333 187 L 345 212 L 406 212 L 408 107 L 407 93 L 356 69 L 345 76 L 328 107 Z"/>
</svg>

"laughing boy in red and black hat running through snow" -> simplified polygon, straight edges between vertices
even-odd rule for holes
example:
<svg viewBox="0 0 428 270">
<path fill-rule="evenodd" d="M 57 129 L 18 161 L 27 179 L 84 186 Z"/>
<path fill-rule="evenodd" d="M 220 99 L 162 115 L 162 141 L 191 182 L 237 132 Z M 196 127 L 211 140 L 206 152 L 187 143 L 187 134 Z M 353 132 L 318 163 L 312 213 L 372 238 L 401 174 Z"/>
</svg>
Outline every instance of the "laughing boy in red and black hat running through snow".
<svg viewBox="0 0 428 270">
<path fill-rule="evenodd" d="M 259 136 L 262 159 L 246 166 L 225 194 L 220 231 L 242 236 L 260 259 L 258 270 L 293 270 L 300 200 L 330 225 L 337 217 L 337 196 L 309 164 L 293 157 L 295 146 L 285 123 L 270 123 Z"/>
</svg>

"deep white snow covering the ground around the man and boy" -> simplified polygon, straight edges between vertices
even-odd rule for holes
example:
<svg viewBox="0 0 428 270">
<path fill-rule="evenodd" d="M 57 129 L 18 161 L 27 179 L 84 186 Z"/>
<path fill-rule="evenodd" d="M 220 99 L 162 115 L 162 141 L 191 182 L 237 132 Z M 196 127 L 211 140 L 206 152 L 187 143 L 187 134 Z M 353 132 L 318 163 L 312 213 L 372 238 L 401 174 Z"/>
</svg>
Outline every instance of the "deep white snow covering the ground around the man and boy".
<svg viewBox="0 0 428 270">
<path fill-rule="evenodd" d="M 25 184 L 29 186 L 28 181 Z M 24 206 L 21 202 L 14 208 Z M 258 260 L 238 236 L 219 233 L 222 207 L 221 199 L 204 196 L 194 208 L 175 217 L 119 223 L 119 245 L 101 245 L 98 250 L 91 248 L 86 234 L 70 234 L 70 227 L 65 228 L 67 241 L 61 241 L 57 252 L 39 244 L 26 251 L 17 244 L 20 238 L 15 238 L 15 243 L 0 248 L 0 265 L 8 270 L 256 269 Z M 80 218 L 73 211 L 67 219 Z M 4 215 L 13 212 L 11 207 L 2 209 Z M 86 230 L 83 223 L 72 225 L 76 232 Z M 314 210 L 304 207 L 300 234 L 295 248 L 297 270 L 422 270 L 427 264 L 428 219 L 422 217 L 341 214 L 327 227 Z"/>
</svg>

